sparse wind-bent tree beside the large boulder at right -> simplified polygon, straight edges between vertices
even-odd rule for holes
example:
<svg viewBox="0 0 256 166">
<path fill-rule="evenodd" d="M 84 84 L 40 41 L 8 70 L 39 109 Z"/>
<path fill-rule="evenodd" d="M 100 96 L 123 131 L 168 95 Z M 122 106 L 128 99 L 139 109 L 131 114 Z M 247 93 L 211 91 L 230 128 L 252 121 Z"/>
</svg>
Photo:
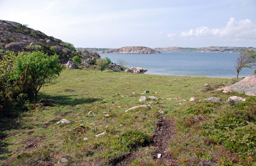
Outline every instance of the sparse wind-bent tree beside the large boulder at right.
<svg viewBox="0 0 256 166">
<path fill-rule="evenodd" d="M 236 79 L 243 68 L 252 68 L 256 65 L 256 54 L 254 50 L 243 50 L 237 57 L 234 68 L 236 68 Z"/>
</svg>

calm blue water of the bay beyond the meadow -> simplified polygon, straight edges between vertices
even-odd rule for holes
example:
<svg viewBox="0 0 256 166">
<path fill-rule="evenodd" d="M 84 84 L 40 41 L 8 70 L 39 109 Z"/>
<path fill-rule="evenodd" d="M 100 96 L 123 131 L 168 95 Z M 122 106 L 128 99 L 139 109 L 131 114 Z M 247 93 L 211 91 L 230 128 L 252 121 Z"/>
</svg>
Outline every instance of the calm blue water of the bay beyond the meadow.
<svg viewBox="0 0 256 166">
<path fill-rule="evenodd" d="M 100 53 L 102 58 L 109 57 L 113 63 L 124 59 L 126 66 L 142 67 L 145 74 L 192 77 L 236 77 L 234 61 L 239 53 L 203 53 L 203 52 L 163 52 L 147 53 Z M 117 65 L 119 65 L 117 63 Z M 254 69 L 243 68 L 239 77 L 253 74 Z"/>
</svg>

